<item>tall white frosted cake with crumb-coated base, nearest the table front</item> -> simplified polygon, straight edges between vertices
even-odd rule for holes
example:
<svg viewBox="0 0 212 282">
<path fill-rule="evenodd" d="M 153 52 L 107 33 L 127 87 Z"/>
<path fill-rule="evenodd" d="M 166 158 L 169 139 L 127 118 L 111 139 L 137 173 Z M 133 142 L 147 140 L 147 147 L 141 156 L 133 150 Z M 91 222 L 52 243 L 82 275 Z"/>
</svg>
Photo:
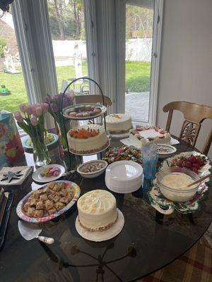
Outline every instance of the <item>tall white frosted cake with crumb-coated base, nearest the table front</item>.
<svg viewBox="0 0 212 282">
<path fill-rule="evenodd" d="M 106 190 L 93 190 L 77 202 L 78 220 L 89 231 L 104 231 L 117 221 L 117 201 Z"/>
</svg>

